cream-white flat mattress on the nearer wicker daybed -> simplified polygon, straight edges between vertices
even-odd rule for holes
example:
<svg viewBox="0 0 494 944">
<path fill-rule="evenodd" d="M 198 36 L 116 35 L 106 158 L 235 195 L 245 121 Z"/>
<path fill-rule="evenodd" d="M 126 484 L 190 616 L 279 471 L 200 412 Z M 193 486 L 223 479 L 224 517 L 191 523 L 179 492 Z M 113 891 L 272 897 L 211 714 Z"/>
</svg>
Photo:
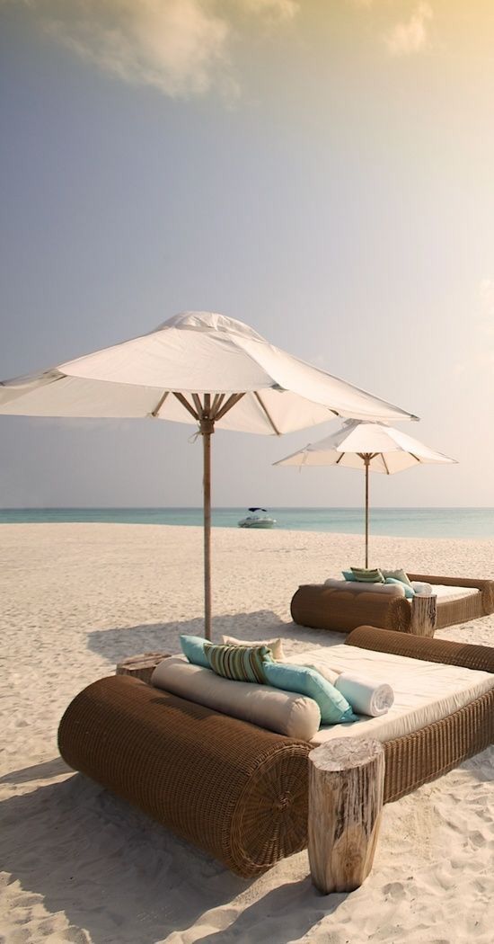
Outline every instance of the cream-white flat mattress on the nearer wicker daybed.
<svg viewBox="0 0 494 944">
<path fill-rule="evenodd" d="M 494 674 L 490 672 L 422 662 L 344 644 L 305 650 L 287 657 L 287 661 L 292 664 L 310 662 L 316 668 L 319 664 L 338 671 L 357 672 L 370 681 L 386 681 L 393 689 L 395 700 L 387 715 L 362 717 L 350 724 L 321 728 L 312 737 L 315 744 L 345 736 L 390 741 L 452 715 L 494 688 Z"/>
</svg>

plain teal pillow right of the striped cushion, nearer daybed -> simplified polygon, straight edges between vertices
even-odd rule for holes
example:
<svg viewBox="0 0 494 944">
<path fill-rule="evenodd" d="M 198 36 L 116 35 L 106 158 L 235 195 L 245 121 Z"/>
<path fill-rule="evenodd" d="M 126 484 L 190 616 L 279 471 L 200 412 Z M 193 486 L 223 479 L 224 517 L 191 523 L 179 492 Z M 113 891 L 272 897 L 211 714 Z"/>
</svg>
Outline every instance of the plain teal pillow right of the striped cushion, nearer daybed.
<svg viewBox="0 0 494 944">
<path fill-rule="evenodd" d="M 321 724 L 340 724 L 344 721 L 356 721 L 357 716 L 352 706 L 329 682 L 307 666 L 288 666 L 288 663 L 265 662 L 266 682 L 274 688 L 283 688 L 286 692 L 297 692 L 316 701 L 321 710 Z"/>
</svg>

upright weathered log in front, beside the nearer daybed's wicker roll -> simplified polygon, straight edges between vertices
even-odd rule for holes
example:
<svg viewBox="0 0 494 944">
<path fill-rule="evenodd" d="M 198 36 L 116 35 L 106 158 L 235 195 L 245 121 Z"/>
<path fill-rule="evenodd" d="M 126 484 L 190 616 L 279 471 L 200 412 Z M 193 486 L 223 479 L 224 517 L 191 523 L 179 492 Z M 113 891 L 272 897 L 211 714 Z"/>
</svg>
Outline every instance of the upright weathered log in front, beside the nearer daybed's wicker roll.
<svg viewBox="0 0 494 944">
<path fill-rule="evenodd" d="M 328 895 L 354 891 L 370 873 L 379 834 L 385 752 L 374 738 L 344 737 L 311 750 L 308 855 Z"/>
</svg>

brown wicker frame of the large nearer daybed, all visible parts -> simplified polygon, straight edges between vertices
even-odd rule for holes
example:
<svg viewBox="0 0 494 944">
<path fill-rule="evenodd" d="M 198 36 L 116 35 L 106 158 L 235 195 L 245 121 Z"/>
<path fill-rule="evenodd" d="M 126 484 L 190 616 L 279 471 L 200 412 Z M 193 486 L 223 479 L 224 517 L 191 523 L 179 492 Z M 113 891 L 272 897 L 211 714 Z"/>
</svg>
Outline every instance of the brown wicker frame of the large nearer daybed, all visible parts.
<svg viewBox="0 0 494 944">
<path fill-rule="evenodd" d="M 372 627 L 349 646 L 494 673 L 494 649 Z M 415 733 L 384 744 L 385 802 L 398 800 L 494 741 L 494 689 Z M 61 719 L 70 767 L 134 803 L 244 877 L 305 848 L 303 740 L 272 733 L 138 679 L 85 688 Z"/>
</svg>

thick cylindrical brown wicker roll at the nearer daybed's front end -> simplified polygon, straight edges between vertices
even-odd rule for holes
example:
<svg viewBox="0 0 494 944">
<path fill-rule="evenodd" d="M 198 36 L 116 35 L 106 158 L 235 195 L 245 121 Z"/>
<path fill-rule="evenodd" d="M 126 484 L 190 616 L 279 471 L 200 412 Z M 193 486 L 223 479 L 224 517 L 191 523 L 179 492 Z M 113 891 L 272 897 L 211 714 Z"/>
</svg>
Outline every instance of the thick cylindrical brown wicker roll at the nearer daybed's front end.
<svg viewBox="0 0 494 944">
<path fill-rule="evenodd" d="M 70 767 L 251 877 L 305 847 L 309 746 L 128 676 L 84 689 L 58 746 Z"/>
</svg>

